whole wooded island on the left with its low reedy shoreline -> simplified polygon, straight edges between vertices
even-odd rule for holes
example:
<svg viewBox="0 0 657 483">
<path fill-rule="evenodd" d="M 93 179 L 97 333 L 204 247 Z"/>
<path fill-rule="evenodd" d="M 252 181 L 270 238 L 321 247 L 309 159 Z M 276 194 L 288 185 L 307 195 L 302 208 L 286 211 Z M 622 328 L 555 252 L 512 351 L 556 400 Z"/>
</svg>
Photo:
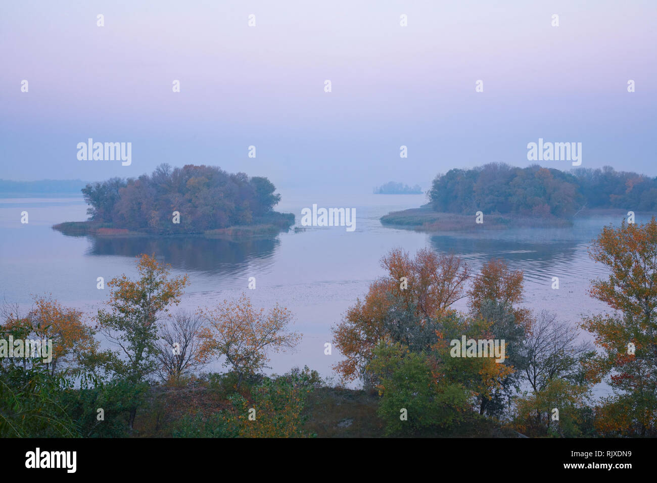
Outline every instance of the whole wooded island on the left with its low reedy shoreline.
<svg viewBox="0 0 657 483">
<path fill-rule="evenodd" d="M 266 177 L 162 164 L 150 176 L 88 183 L 81 191 L 89 219 L 53 229 L 65 235 L 271 235 L 294 224 L 294 214 L 273 211 L 281 200 L 275 190 Z"/>
</svg>

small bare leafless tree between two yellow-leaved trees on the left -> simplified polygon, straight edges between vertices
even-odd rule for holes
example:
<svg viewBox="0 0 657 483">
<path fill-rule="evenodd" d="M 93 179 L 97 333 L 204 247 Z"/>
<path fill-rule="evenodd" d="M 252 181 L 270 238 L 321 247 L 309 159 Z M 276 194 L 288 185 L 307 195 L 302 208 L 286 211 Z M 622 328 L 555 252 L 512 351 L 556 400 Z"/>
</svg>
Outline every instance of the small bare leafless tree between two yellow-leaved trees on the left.
<svg viewBox="0 0 657 483">
<path fill-rule="evenodd" d="M 160 328 L 160 341 L 156 344 L 156 357 L 159 365 L 156 369 L 165 382 L 178 382 L 205 364 L 199 359 L 202 319 L 189 311 L 179 311 L 171 317 L 170 323 Z"/>
</svg>

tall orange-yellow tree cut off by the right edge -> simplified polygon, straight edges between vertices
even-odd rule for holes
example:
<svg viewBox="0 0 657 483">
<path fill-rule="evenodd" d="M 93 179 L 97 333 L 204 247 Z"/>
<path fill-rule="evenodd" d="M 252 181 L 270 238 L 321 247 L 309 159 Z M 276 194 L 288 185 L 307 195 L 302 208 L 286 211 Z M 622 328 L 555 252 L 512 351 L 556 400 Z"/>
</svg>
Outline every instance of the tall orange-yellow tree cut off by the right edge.
<svg viewBox="0 0 657 483">
<path fill-rule="evenodd" d="M 606 279 L 591 285 L 593 298 L 610 313 L 583 319 L 595 337 L 597 357 L 587 361 L 587 375 L 606 379 L 614 395 L 599 409 L 597 427 L 604 434 L 657 435 L 657 222 L 604 227 L 589 256 L 606 265 Z"/>
</svg>

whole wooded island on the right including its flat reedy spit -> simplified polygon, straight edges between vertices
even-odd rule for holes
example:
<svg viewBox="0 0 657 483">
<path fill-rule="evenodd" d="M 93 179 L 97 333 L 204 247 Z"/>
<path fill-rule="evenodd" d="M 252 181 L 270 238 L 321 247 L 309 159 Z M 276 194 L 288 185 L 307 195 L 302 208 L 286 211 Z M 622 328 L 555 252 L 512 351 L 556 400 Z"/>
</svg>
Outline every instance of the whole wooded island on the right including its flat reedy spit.
<svg viewBox="0 0 657 483">
<path fill-rule="evenodd" d="M 490 163 L 436 176 L 428 204 L 392 212 L 381 223 L 421 231 L 572 226 L 575 216 L 657 211 L 657 178 L 633 172 Z M 484 223 L 476 223 L 481 212 Z"/>
</svg>

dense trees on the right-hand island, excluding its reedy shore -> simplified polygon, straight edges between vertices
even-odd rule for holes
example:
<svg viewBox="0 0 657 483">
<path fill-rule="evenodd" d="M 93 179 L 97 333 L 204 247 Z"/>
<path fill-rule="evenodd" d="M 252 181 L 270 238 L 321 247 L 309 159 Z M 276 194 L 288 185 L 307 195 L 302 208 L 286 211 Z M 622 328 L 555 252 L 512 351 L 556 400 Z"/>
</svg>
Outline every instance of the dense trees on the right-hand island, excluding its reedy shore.
<svg viewBox="0 0 657 483">
<path fill-rule="evenodd" d="M 563 172 L 532 165 L 491 163 L 449 170 L 428 193 L 436 212 L 572 216 L 582 208 L 657 210 L 657 178 L 633 172 L 576 168 Z"/>
</svg>

